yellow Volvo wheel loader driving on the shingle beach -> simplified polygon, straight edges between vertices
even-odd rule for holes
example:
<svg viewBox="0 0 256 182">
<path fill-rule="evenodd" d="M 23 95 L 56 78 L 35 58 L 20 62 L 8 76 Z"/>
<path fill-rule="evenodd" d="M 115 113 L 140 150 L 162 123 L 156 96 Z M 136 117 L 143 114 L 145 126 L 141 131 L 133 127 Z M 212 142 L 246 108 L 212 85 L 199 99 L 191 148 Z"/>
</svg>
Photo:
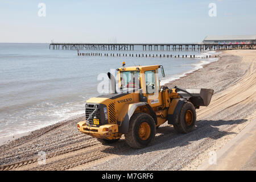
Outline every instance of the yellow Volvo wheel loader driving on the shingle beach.
<svg viewBox="0 0 256 182">
<path fill-rule="evenodd" d="M 143 148 L 152 143 L 156 129 L 168 121 L 179 133 L 188 133 L 196 125 L 196 109 L 208 106 L 212 89 L 182 89 L 160 86 L 162 65 L 117 69 L 118 84 L 108 73 L 108 95 L 90 98 L 85 104 L 85 121 L 77 129 L 108 144 L 122 135 L 130 147 Z"/>
</svg>

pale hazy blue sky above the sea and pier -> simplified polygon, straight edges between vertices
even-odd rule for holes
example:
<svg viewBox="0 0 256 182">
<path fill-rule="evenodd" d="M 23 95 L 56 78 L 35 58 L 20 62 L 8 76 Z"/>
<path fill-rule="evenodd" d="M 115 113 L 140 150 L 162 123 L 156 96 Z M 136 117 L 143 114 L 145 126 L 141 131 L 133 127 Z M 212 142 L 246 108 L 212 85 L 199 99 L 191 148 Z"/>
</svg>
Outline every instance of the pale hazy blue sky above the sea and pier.
<svg viewBox="0 0 256 182">
<path fill-rule="evenodd" d="M 0 24 L 0 42 L 191 43 L 256 34 L 256 1 L 0 0 Z"/>
</svg>

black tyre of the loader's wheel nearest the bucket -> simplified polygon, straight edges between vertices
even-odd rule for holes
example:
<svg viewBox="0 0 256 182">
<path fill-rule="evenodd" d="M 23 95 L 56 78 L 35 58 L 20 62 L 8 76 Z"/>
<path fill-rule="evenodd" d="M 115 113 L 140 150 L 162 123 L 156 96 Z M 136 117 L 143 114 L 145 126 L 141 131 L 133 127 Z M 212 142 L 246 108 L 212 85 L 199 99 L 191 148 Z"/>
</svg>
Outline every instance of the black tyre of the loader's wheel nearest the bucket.
<svg viewBox="0 0 256 182">
<path fill-rule="evenodd" d="M 187 112 L 190 113 L 190 111 L 191 111 L 191 115 L 193 116 L 193 118 L 191 119 L 191 122 L 188 125 L 188 123 L 186 122 L 185 116 L 186 116 Z M 178 115 L 178 117 L 176 118 L 176 121 L 174 123 L 174 129 L 178 133 L 189 133 L 195 128 L 195 125 L 196 125 L 195 106 L 191 102 L 185 101 L 184 105 L 182 106 L 182 108 L 180 110 L 180 114 Z"/>
</svg>

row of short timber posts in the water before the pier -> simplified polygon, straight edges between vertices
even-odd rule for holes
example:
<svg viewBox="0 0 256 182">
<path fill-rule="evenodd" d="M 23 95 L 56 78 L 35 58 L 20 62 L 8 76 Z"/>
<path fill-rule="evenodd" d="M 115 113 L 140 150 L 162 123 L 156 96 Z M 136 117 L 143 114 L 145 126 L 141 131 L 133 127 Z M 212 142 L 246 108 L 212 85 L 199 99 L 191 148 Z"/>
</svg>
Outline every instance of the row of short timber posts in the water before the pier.
<svg viewBox="0 0 256 182">
<path fill-rule="evenodd" d="M 77 55 L 78 56 L 102 56 L 102 53 L 93 53 L 93 52 L 91 52 L 91 53 L 84 53 L 84 52 L 80 52 L 80 53 L 77 53 Z M 174 55 L 174 56 L 172 56 L 172 55 L 159 55 L 158 56 L 158 54 L 133 54 L 133 53 L 129 53 L 129 54 L 127 54 L 127 53 L 104 53 L 104 56 L 112 56 L 112 57 L 121 57 L 121 56 L 123 56 L 123 57 L 127 57 L 127 56 L 129 56 L 129 57 L 190 57 L 190 58 L 195 58 L 196 56 L 195 55 L 190 55 L 190 56 L 188 56 L 188 55 Z M 206 56 L 206 58 L 210 58 L 210 55 L 208 56 Z M 215 57 L 217 57 L 217 55 L 215 55 Z"/>
</svg>

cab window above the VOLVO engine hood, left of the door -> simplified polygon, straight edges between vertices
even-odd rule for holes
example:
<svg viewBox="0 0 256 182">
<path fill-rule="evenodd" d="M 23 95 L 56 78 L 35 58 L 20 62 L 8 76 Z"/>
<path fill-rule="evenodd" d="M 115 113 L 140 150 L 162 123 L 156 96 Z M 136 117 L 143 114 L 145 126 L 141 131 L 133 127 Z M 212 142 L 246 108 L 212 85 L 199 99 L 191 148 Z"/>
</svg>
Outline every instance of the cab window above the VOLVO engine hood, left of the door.
<svg viewBox="0 0 256 182">
<path fill-rule="evenodd" d="M 140 72 L 139 71 L 121 71 L 121 90 L 140 89 L 141 84 L 139 82 Z"/>
</svg>

